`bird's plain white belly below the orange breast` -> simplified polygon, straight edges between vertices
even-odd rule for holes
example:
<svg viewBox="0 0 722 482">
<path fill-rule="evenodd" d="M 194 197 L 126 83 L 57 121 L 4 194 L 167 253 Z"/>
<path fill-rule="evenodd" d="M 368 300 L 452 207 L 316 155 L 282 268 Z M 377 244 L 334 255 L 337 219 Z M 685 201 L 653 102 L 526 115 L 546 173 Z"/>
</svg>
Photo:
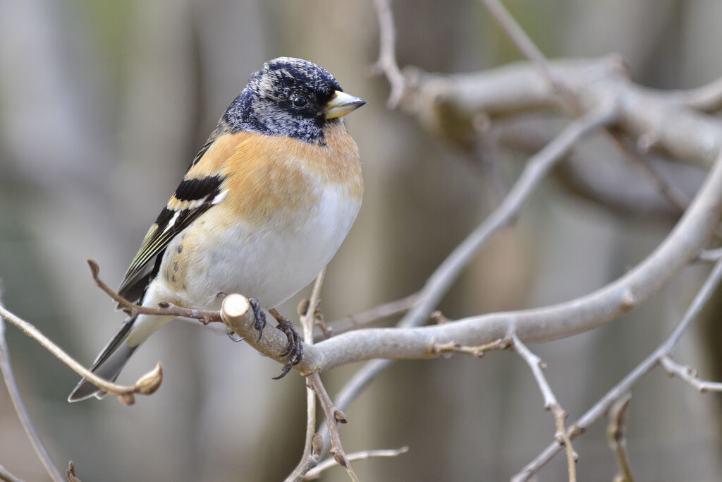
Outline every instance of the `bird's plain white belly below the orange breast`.
<svg viewBox="0 0 722 482">
<path fill-rule="evenodd" d="M 308 285 L 331 261 L 346 238 L 360 208 L 333 186 L 326 187 L 318 205 L 298 218 L 271 218 L 261 225 L 238 223 L 202 238 L 199 257 L 188 263 L 179 301 L 199 309 L 219 309 L 218 293 L 240 293 L 272 308 Z M 196 220 L 196 223 L 202 220 Z M 202 231 L 199 231 L 202 232 Z M 182 243 L 169 245 L 160 274 L 173 263 Z"/>
</svg>

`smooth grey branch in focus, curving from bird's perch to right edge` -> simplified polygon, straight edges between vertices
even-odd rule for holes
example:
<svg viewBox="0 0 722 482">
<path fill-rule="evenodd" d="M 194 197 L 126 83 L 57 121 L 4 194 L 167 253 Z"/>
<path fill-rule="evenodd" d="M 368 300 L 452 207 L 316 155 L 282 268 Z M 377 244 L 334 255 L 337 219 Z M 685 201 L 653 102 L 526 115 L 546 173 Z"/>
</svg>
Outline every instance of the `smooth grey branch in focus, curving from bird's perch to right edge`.
<svg viewBox="0 0 722 482">
<path fill-rule="evenodd" d="M 722 212 L 722 162 L 669 236 L 643 262 L 614 283 L 586 296 L 538 309 L 469 317 L 421 328 L 376 328 L 344 333 L 308 347 L 302 371 L 331 369 L 370 358 L 432 358 L 433 345 L 484 345 L 510 327 L 522 341 L 548 341 L 612 321 L 664 288 L 707 244 Z"/>
</svg>

